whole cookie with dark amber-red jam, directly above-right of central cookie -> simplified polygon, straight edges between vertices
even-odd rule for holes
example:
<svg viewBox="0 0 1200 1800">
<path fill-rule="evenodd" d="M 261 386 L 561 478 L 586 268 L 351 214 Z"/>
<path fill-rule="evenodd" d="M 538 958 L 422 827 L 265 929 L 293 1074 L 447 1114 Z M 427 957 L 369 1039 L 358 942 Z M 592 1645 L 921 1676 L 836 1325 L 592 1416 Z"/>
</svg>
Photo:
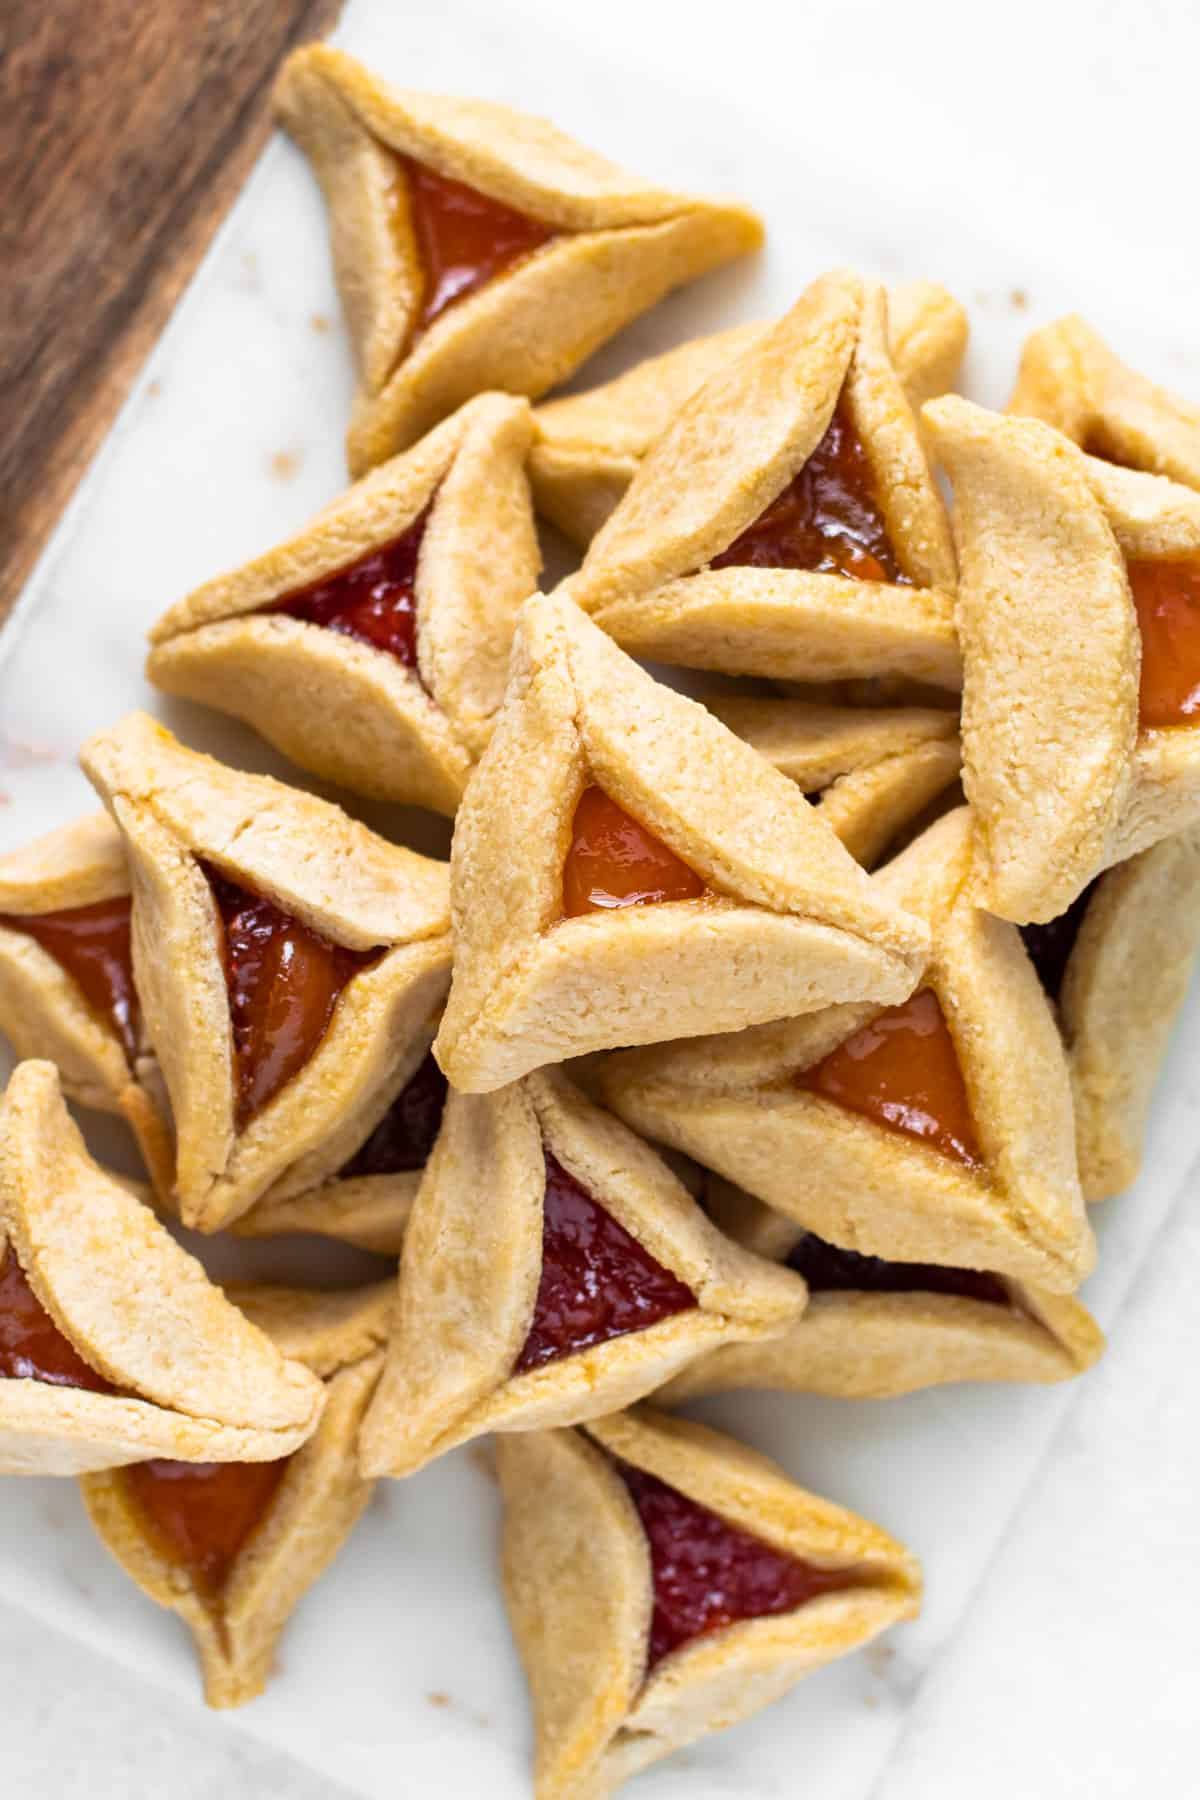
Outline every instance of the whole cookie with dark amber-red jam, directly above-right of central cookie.
<svg viewBox="0 0 1200 1800">
<path fill-rule="evenodd" d="M 883 290 L 842 270 L 685 401 L 565 587 L 660 662 L 957 689 L 954 583 Z"/>
</svg>

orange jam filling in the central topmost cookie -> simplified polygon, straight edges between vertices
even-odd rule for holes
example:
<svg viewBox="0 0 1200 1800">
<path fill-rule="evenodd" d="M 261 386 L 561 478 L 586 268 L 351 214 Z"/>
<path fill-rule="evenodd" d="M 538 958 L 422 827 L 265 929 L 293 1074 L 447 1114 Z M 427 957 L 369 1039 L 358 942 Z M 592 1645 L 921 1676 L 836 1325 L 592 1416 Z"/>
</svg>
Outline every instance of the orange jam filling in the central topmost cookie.
<svg viewBox="0 0 1200 1800">
<path fill-rule="evenodd" d="M 655 900 L 698 900 L 707 891 L 694 869 L 603 788 L 583 790 L 563 864 L 567 918 Z"/>
</svg>

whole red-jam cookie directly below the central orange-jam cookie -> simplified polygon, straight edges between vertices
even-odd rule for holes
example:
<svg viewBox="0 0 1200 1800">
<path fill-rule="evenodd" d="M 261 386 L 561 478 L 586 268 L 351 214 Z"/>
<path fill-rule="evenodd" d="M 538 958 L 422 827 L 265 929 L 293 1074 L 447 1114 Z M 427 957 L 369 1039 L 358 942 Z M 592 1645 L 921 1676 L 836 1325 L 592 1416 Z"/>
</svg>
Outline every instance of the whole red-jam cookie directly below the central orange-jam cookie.
<svg viewBox="0 0 1200 1800">
<path fill-rule="evenodd" d="M 412 1474 L 484 1431 L 594 1418 L 716 1343 L 784 1330 L 802 1305 L 795 1276 L 727 1242 L 561 1071 L 452 1093 L 362 1465 Z"/>
</svg>

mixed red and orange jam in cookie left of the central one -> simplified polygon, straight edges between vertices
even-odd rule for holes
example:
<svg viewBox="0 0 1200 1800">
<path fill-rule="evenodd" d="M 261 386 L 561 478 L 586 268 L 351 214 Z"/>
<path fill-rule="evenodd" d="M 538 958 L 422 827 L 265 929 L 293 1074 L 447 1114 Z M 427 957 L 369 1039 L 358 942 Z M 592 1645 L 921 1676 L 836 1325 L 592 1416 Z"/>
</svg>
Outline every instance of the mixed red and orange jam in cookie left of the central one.
<svg viewBox="0 0 1200 1800">
<path fill-rule="evenodd" d="M 234 1028 L 237 1129 L 304 1067 L 329 1030 L 344 986 L 376 950 L 345 950 L 263 895 L 203 866 L 225 927 Z"/>
</svg>

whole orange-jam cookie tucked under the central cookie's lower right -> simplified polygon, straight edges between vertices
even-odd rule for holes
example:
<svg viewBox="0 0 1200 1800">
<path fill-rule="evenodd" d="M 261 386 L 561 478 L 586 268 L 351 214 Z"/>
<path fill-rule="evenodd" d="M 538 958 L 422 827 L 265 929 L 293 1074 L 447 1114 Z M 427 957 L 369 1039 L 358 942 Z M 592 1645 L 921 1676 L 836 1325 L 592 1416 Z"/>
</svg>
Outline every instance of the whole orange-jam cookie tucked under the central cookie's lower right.
<svg viewBox="0 0 1200 1800">
<path fill-rule="evenodd" d="M 905 1006 L 628 1051 L 599 1091 L 829 1244 L 1070 1292 L 1096 1246 L 1063 1048 L 1018 932 L 975 905 L 970 873 L 959 808 L 874 877 L 932 931 Z"/>
</svg>

